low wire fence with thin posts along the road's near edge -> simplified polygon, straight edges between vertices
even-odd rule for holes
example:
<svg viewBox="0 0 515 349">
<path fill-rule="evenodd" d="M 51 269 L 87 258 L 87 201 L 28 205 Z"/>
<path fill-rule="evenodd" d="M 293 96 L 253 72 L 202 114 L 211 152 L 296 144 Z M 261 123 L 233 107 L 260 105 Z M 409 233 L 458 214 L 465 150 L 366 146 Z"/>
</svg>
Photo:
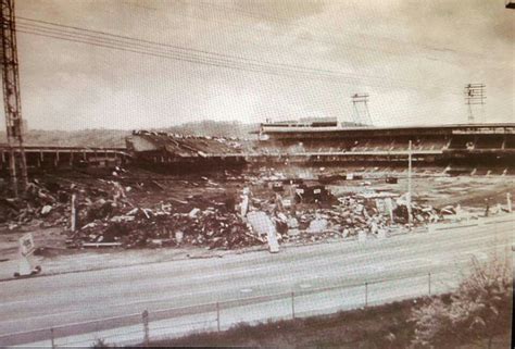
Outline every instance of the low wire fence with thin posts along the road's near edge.
<svg viewBox="0 0 515 349">
<path fill-rule="evenodd" d="M 352 281 L 301 290 L 258 295 L 218 302 L 142 310 L 124 316 L 40 329 L 24 334 L 32 344 L 51 348 L 108 344 L 148 344 L 198 332 L 221 332 L 239 323 L 287 320 L 353 310 L 450 291 L 455 277 L 442 272 L 414 272 L 388 279 Z M 18 337 L 20 339 L 20 337 Z"/>
</svg>

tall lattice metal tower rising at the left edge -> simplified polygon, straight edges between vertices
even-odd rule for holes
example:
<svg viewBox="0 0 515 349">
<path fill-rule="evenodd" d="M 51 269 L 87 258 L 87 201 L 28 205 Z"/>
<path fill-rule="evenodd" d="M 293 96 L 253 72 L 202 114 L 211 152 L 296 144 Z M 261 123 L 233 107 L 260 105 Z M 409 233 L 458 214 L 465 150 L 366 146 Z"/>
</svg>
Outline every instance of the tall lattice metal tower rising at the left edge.
<svg viewBox="0 0 515 349">
<path fill-rule="evenodd" d="M 5 126 L 10 148 L 10 173 L 14 196 L 18 195 L 18 185 L 27 187 L 27 161 L 23 148 L 23 119 L 20 97 L 20 75 L 16 49 L 16 24 L 14 0 L 2 2 L 2 85 Z M 18 178 L 21 183 L 18 183 Z"/>
</svg>

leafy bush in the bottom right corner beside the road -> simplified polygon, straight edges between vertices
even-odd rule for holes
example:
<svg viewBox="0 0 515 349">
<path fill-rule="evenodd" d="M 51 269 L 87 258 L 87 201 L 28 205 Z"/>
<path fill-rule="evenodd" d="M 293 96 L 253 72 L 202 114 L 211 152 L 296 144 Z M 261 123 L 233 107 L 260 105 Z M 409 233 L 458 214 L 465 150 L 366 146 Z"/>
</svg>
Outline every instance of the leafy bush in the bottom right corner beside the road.
<svg viewBox="0 0 515 349">
<path fill-rule="evenodd" d="M 510 261 L 493 257 L 472 261 L 473 271 L 450 297 L 434 298 L 414 309 L 414 348 L 454 348 L 457 344 L 487 339 L 511 329 L 512 270 Z"/>
</svg>

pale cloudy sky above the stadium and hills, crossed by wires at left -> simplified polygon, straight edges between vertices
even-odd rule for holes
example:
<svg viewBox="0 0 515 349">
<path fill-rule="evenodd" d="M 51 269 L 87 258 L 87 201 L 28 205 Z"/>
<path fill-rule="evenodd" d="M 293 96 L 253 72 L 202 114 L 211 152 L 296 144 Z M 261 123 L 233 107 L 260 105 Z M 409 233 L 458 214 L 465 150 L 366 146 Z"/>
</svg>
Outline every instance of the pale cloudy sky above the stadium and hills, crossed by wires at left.
<svg viewBox="0 0 515 349">
<path fill-rule="evenodd" d="M 17 0 L 16 15 L 25 32 L 55 33 L 28 18 L 163 43 L 136 41 L 155 57 L 18 33 L 29 128 L 352 121 L 354 92 L 370 96 L 377 125 L 465 123 L 468 83 L 487 85 L 479 122 L 515 122 L 515 11 L 504 0 Z"/>
</svg>

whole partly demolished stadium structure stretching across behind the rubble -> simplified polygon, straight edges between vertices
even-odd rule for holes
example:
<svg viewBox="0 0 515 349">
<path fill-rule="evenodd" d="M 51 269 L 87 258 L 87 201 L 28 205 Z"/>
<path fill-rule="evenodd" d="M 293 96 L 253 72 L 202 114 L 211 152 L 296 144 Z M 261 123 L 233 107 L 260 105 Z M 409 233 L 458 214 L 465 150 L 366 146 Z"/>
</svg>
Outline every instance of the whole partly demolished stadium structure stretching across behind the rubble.
<svg viewBox="0 0 515 349">
<path fill-rule="evenodd" d="M 255 135 L 238 139 L 138 130 L 126 137 L 126 148 L 28 146 L 24 150 L 29 167 L 46 170 L 129 163 L 165 171 L 249 163 L 395 167 L 405 166 L 410 153 L 414 166 L 438 166 L 449 173 L 512 174 L 515 164 L 513 123 L 410 127 L 266 123 Z M 9 147 L 0 145 L 1 171 L 7 172 L 9 157 Z"/>
</svg>

